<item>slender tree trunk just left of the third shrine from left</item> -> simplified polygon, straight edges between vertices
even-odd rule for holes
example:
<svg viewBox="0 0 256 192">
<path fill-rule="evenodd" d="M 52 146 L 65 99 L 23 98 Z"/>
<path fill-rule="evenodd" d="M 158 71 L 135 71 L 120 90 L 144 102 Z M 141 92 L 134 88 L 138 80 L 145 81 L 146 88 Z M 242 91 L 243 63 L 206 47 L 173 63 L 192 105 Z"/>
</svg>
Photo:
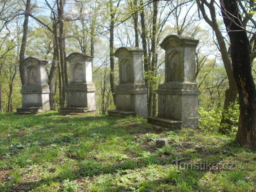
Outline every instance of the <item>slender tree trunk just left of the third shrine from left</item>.
<svg viewBox="0 0 256 192">
<path fill-rule="evenodd" d="M 109 28 L 109 56 L 110 56 L 110 88 L 113 95 L 113 100 L 116 105 L 116 95 L 115 95 L 115 60 L 114 60 L 114 27 L 115 27 L 115 12 L 113 10 L 113 1 L 109 0 L 110 4 L 110 28 Z M 121 80 L 121 79 L 120 79 Z"/>
</svg>

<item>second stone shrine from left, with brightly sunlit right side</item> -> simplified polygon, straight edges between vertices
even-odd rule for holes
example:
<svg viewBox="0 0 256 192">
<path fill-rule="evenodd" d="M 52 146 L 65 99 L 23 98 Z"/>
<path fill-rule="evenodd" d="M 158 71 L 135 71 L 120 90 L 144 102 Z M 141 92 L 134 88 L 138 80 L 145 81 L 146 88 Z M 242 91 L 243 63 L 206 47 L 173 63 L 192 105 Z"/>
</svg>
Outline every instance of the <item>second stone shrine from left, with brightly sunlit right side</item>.
<svg viewBox="0 0 256 192">
<path fill-rule="evenodd" d="M 70 83 L 66 85 L 66 106 L 62 113 L 96 111 L 95 84 L 92 82 L 92 58 L 82 53 L 71 53 L 69 62 Z"/>
</svg>

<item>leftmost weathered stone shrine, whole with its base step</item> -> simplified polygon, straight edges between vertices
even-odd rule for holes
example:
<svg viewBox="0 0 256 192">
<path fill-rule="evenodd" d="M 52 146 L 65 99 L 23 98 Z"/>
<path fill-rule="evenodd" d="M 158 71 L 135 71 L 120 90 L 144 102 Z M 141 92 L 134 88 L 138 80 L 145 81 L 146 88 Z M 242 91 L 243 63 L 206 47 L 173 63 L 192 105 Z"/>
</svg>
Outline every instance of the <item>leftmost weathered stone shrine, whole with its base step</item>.
<svg viewBox="0 0 256 192">
<path fill-rule="evenodd" d="M 50 110 L 50 90 L 45 67 L 47 63 L 33 57 L 24 60 L 25 85 L 21 86 L 22 108 L 16 109 L 18 114 Z"/>
</svg>

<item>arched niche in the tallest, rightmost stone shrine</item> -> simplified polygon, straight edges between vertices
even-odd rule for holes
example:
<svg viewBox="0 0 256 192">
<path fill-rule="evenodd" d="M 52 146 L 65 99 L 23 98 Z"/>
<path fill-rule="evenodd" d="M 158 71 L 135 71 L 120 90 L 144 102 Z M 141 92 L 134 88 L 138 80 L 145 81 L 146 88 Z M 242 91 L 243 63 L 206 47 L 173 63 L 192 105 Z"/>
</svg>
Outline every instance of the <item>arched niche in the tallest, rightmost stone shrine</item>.
<svg viewBox="0 0 256 192">
<path fill-rule="evenodd" d="M 181 54 L 173 51 L 168 55 L 167 82 L 182 81 L 182 63 Z"/>
</svg>

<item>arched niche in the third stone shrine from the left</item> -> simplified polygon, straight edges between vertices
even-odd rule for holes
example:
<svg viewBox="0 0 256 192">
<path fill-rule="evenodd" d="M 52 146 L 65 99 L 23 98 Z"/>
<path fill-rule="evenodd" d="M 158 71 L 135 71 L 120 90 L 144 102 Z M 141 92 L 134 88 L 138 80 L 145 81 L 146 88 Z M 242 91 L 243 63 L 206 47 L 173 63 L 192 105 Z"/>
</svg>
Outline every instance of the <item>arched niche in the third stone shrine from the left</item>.
<svg viewBox="0 0 256 192">
<path fill-rule="evenodd" d="M 121 73 L 122 79 L 121 82 L 123 83 L 131 83 L 132 82 L 132 64 L 130 59 L 124 59 L 121 61 Z"/>
</svg>

